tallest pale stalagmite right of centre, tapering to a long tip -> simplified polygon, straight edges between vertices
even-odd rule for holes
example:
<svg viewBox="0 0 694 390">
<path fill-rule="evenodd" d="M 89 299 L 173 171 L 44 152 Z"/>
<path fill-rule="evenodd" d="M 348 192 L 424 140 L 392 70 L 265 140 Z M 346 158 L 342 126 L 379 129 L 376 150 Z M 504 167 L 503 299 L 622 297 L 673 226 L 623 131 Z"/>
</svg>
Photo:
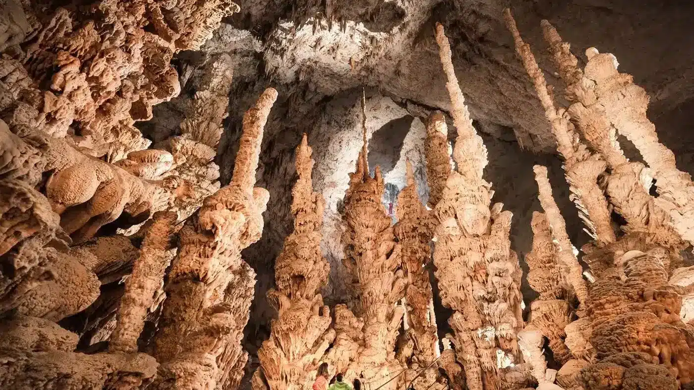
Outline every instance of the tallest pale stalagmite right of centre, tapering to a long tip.
<svg viewBox="0 0 694 390">
<path fill-rule="evenodd" d="M 477 135 L 455 78 L 450 45 L 437 25 L 437 42 L 452 117 L 458 130 L 452 171 L 436 206 L 439 219 L 434 264 L 441 300 L 454 314 L 456 355 L 471 390 L 500 389 L 500 371 L 518 362 L 521 271 L 510 249 L 511 213 L 491 207 L 491 185 L 482 178 L 486 147 Z"/>
</svg>

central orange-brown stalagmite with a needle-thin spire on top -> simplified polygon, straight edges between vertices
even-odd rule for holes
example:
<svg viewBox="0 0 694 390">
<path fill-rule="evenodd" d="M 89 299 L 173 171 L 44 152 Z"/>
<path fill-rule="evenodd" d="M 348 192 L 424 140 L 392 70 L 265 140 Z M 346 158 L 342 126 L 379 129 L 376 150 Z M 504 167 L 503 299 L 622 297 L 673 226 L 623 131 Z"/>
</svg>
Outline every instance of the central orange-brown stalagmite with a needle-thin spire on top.
<svg viewBox="0 0 694 390">
<path fill-rule="evenodd" d="M 362 95 L 364 146 L 345 193 L 342 241 L 343 262 L 359 280 L 359 309 L 364 319 L 364 344 L 355 362 L 357 372 L 362 373 L 367 388 L 375 389 L 404 368 L 394 352 L 404 311 L 395 304 L 405 295 L 407 280 L 399 269 L 402 255 L 393 236 L 391 218 L 381 203 L 384 183 L 380 168 L 375 168 L 375 177 L 369 174 L 364 106 Z M 399 376 L 383 389 L 397 389 L 402 380 Z"/>
</svg>

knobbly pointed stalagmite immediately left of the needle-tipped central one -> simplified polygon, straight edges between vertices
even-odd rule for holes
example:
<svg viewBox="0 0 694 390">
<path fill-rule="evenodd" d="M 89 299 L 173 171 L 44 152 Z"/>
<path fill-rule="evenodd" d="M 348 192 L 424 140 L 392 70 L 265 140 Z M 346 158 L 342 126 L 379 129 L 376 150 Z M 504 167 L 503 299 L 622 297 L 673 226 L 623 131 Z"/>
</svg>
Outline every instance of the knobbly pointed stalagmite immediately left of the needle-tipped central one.
<svg viewBox="0 0 694 390">
<path fill-rule="evenodd" d="M 292 191 L 294 232 L 275 262 L 277 289 L 268 296 L 278 307 L 270 339 L 258 351 L 255 389 L 309 389 L 318 362 L 335 339 L 328 306 L 318 290 L 328 282 L 330 266 L 321 255 L 323 196 L 313 191 L 312 150 L 304 134 L 296 150 L 298 180 Z"/>
</svg>

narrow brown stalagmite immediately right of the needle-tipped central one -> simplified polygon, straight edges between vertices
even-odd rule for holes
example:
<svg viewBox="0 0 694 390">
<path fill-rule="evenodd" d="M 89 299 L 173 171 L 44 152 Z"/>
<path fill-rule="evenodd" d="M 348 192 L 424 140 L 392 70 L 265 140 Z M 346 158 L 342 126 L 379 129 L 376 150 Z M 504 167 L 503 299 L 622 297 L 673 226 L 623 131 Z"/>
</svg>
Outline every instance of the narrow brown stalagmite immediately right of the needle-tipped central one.
<svg viewBox="0 0 694 390">
<path fill-rule="evenodd" d="M 446 158 L 448 160 L 448 155 Z M 406 174 L 407 186 L 398 194 L 398 223 L 394 226 L 403 256 L 403 269 L 407 273 L 405 300 L 410 310 L 407 311 L 409 331 L 406 337 L 413 344 L 412 357 L 406 357 L 407 366 L 412 371 L 407 372 L 405 380 L 408 384 L 414 380 L 414 389 L 441 389 L 443 385 L 437 387 L 435 383 L 439 371 L 436 365 L 432 366 L 439 357 L 439 337 L 436 322 L 430 315 L 432 286 L 429 273 L 424 269 L 431 259 L 434 216 L 419 201 L 414 171 L 409 161 Z"/>
</svg>

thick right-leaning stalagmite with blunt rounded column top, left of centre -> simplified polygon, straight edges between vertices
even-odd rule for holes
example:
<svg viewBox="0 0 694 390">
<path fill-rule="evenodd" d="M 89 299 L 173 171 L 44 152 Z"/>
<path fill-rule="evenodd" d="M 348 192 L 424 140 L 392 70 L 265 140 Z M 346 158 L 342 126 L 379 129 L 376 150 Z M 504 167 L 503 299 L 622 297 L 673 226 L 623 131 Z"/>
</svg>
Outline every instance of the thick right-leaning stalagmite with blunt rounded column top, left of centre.
<svg viewBox="0 0 694 390">
<path fill-rule="evenodd" d="M 155 339 L 160 388 L 235 388 L 241 380 L 247 354 L 239 343 L 255 284 L 241 251 L 262 233 L 269 194 L 253 185 L 276 99 L 269 88 L 246 112 L 231 183 L 208 196 L 180 230 Z"/>
</svg>

